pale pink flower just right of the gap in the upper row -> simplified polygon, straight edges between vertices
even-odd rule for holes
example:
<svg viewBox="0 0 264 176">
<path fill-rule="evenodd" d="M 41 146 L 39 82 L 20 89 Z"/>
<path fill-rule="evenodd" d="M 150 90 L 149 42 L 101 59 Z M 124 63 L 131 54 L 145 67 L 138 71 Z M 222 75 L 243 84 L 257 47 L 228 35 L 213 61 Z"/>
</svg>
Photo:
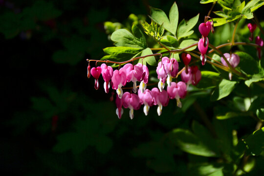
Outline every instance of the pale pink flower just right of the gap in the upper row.
<svg viewBox="0 0 264 176">
<path fill-rule="evenodd" d="M 165 81 L 166 81 L 166 78 L 167 78 L 167 64 L 170 62 L 169 58 L 168 57 L 163 57 L 161 62 L 158 63 L 158 66 L 157 66 L 157 69 L 156 69 L 156 72 L 157 72 L 157 75 L 158 75 L 158 79 L 159 79 L 159 82 L 158 82 L 158 88 L 160 91 L 163 90 L 163 88 L 165 87 Z"/>
</svg>

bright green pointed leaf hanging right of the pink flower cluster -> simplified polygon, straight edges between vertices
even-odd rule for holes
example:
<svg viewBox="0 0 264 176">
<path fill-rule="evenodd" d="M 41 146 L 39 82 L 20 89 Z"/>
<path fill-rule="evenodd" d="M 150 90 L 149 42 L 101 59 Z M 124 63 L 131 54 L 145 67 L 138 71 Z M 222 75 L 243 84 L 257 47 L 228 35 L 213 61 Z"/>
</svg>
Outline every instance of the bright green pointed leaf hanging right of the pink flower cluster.
<svg viewBox="0 0 264 176">
<path fill-rule="evenodd" d="M 218 87 L 215 88 L 214 92 L 212 93 L 211 100 L 216 101 L 228 96 L 235 88 L 236 84 L 236 81 L 222 79 Z"/>
</svg>

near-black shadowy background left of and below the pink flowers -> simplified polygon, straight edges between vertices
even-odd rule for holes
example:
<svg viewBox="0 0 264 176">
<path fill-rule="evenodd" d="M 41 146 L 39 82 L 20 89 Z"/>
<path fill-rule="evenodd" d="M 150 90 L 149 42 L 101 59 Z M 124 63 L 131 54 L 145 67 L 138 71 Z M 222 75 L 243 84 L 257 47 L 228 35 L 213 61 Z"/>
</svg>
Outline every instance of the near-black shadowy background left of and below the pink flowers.
<svg viewBox="0 0 264 176">
<path fill-rule="evenodd" d="M 86 59 L 100 59 L 102 49 L 112 46 L 104 22 L 129 23 L 132 13 L 150 22 L 149 5 L 169 12 L 173 2 L 0 0 L 0 170 L 32 176 L 184 175 L 186 162 L 196 156 L 171 148 L 164 136 L 188 127 L 200 105 L 212 114 L 208 96 L 186 113 L 171 102 L 160 117 L 154 107 L 148 116 L 143 108 L 136 111 L 133 120 L 124 110 L 119 120 L 103 79 L 95 90 L 87 78 Z M 198 13 L 201 22 L 211 7 L 199 0 L 176 3 L 179 22 Z"/>
</svg>

